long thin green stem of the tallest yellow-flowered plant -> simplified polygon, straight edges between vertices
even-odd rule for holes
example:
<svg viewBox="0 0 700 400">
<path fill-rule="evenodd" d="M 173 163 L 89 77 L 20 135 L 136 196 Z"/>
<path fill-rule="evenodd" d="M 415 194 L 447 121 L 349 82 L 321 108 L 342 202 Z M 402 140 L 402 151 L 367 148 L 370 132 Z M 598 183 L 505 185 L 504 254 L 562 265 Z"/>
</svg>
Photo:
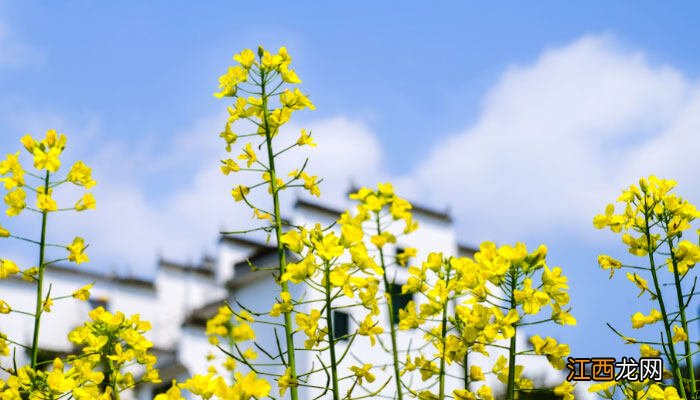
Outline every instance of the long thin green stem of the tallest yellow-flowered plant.
<svg viewBox="0 0 700 400">
<path fill-rule="evenodd" d="M 280 201 L 279 193 L 277 187 L 277 172 L 275 170 L 275 152 L 272 149 L 272 132 L 270 132 L 270 125 L 268 123 L 269 110 L 267 108 L 267 95 L 265 93 L 265 71 L 261 70 L 261 92 L 262 92 L 262 110 L 263 110 L 263 126 L 265 129 L 265 144 L 267 145 L 267 157 L 270 168 L 270 187 L 272 191 L 272 203 L 274 206 L 274 218 L 275 218 L 275 239 L 277 241 L 277 260 L 279 263 L 279 276 L 281 277 L 287 269 L 287 259 L 284 251 L 284 245 L 282 244 L 282 216 L 280 215 Z M 282 292 L 289 291 L 289 284 L 285 281 L 281 283 Z M 284 313 L 284 335 L 287 341 L 287 368 L 289 368 L 292 381 L 296 382 L 297 372 L 296 372 L 296 362 L 294 357 L 294 328 L 292 326 L 292 312 L 287 311 Z M 296 385 L 293 385 L 290 389 L 290 395 L 292 400 L 299 399 L 299 389 Z"/>
</svg>

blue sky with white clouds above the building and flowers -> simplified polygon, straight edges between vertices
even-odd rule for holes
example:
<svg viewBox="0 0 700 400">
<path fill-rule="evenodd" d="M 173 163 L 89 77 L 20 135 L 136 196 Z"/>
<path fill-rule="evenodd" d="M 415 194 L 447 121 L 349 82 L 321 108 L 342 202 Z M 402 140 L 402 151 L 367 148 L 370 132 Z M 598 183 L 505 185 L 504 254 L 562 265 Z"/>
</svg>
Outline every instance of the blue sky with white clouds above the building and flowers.
<svg viewBox="0 0 700 400">
<path fill-rule="evenodd" d="M 465 243 L 546 243 L 579 325 L 545 333 L 578 357 L 637 356 L 605 322 L 629 328 L 650 305 L 598 269 L 625 250 L 591 220 L 651 173 L 700 200 L 697 6 L 258 4 L 0 3 L 0 150 L 56 128 L 99 181 L 98 210 L 55 237 L 86 236 L 95 268 L 122 273 L 210 251 L 249 218 L 216 169 L 217 78 L 234 52 L 286 45 L 317 106 L 294 127 L 317 138 L 329 202 L 351 180 L 391 180 L 451 210 Z"/>
</svg>

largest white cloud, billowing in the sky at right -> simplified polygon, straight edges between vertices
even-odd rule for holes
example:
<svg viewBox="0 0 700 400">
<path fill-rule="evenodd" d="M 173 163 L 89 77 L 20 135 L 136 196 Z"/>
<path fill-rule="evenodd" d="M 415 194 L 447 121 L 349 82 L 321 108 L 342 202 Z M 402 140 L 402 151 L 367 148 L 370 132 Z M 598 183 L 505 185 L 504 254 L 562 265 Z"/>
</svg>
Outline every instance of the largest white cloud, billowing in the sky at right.
<svg viewBox="0 0 700 400">
<path fill-rule="evenodd" d="M 399 181 L 450 203 L 479 239 L 592 231 L 593 215 L 640 176 L 692 177 L 698 111 L 698 90 L 678 71 L 585 36 L 511 67 L 477 121 Z"/>
</svg>

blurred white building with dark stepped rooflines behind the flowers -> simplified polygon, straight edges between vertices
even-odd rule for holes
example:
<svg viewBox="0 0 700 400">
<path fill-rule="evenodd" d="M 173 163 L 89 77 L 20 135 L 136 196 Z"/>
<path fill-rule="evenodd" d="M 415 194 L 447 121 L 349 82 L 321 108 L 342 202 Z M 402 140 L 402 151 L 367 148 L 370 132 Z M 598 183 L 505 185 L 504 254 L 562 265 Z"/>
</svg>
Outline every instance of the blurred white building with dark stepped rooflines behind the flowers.
<svg viewBox="0 0 700 400">
<path fill-rule="evenodd" d="M 350 206 L 351 204 L 348 203 L 348 207 Z M 339 214 L 338 209 L 299 199 L 294 204 L 288 220 L 295 225 L 316 222 L 330 225 Z M 417 248 L 419 258 L 424 258 L 431 251 L 442 251 L 447 256 L 471 256 L 474 253 L 474 248 L 460 244 L 458 241 L 452 218 L 448 213 L 414 205 L 413 214 L 420 228 L 411 235 L 399 238 L 395 246 L 387 247 L 386 254 L 392 254 L 397 248 L 405 247 Z M 276 265 L 276 257 L 276 248 L 265 244 L 264 241 L 223 236 L 218 242 L 216 256 L 205 256 L 197 265 L 181 264 L 161 258 L 152 281 L 97 275 L 75 267 L 51 266 L 47 269 L 46 278 L 52 283 L 52 293 L 71 293 L 90 282 L 95 282 L 95 286 L 88 303 L 67 299 L 57 302 L 54 311 L 44 315 L 40 338 L 44 350 L 42 355 L 45 358 L 51 358 L 56 354 L 72 351 L 71 344 L 67 340 L 68 332 L 86 320 L 87 312 L 91 307 L 104 305 L 109 311 L 119 310 L 127 315 L 139 313 L 142 319 L 151 321 L 153 325 L 149 339 L 154 343 L 154 353 L 159 359 L 158 368 L 163 384 L 155 387 L 142 386 L 132 396 L 138 399 L 151 399 L 155 393 L 169 387 L 171 379 L 182 381 L 195 373 L 206 373 L 208 366 L 212 364 L 207 360 L 207 354 L 216 354 L 218 350 L 209 344 L 204 334 L 204 326 L 225 301 L 231 304 L 238 301 L 256 311 L 269 311 L 272 308 L 279 290 L 273 274 L 269 271 L 252 271 L 247 260 L 258 267 L 271 267 Z M 400 267 L 391 267 L 388 273 L 396 280 L 399 288 L 407 279 L 407 271 Z M 2 298 L 7 300 L 14 309 L 33 309 L 36 296 L 33 284 L 17 278 L 0 280 L 0 287 Z M 294 298 L 299 298 L 306 292 L 303 285 L 292 285 L 290 291 Z M 309 293 L 306 293 L 306 296 L 308 297 Z M 405 296 L 396 299 L 397 302 L 408 300 Z M 419 298 L 415 300 L 420 301 Z M 354 321 L 361 320 L 365 314 L 366 311 L 358 309 L 350 310 L 346 316 L 336 316 L 339 322 L 336 329 L 353 330 Z M 382 316 L 385 315 L 386 313 L 382 313 Z M 388 332 L 390 322 L 388 320 L 381 322 L 384 324 L 384 331 Z M 31 343 L 32 323 L 31 317 L 12 313 L 0 318 L 0 332 L 15 340 Z M 274 332 L 260 326 L 255 328 L 258 344 L 270 349 L 271 353 L 275 352 Z M 283 335 L 280 336 L 283 337 Z M 303 347 L 303 336 L 303 333 L 296 335 L 297 347 Z M 422 341 L 421 336 L 422 334 L 418 332 L 400 332 L 398 345 L 406 349 L 411 342 Z M 524 335 L 520 336 L 523 338 Z M 383 340 L 386 342 L 386 337 Z M 521 340 L 521 343 L 525 341 Z M 343 353 L 344 347 L 345 343 L 339 342 L 338 353 Z M 387 364 L 390 360 L 379 347 L 370 347 L 366 337 L 358 336 L 355 339 L 352 353 L 363 362 L 375 365 Z M 427 355 L 430 354 L 432 350 Z M 260 355 L 264 357 L 263 354 Z M 341 374 L 348 374 L 347 368 L 350 365 L 358 365 L 358 361 L 354 360 L 352 355 L 349 355 L 341 365 Z M 25 357 L 26 360 L 26 354 L 20 354 L 18 351 L 17 356 L 18 361 L 22 361 L 21 357 Z M 328 363 L 327 359 L 323 361 Z M 541 370 L 542 375 L 546 376 L 543 383 L 547 385 L 559 383 L 562 379 L 561 372 L 553 371 L 543 358 L 528 364 L 538 372 Z M 298 371 L 306 371 L 318 367 L 319 362 L 309 352 L 299 352 L 297 365 Z M 390 368 L 387 368 L 386 372 L 375 371 L 377 381 L 370 386 L 376 387 L 377 382 L 385 382 L 390 376 L 389 371 Z M 457 388 L 460 385 L 458 377 L 461 373 L 459 370 L 453 370 L 452 373 L 455 376 L 451 378 L 454 385 L 452 387 Z M 316 374 L 312 378 L 312 383 L 323 387 L 326 385 L 326 375 Z M 421 387 L 421 384 L 417 381 L 414 386 Z M 393 381 L 387 385 L 387 388 L 392 387 Z M 318 390 L 300 390 L 302 399 L 312 399 L 321 393 Z M 328 398 L 328 395 L 321 398 Z M 577 398 L 585 397 L 577 396 Z"/>
</svg>

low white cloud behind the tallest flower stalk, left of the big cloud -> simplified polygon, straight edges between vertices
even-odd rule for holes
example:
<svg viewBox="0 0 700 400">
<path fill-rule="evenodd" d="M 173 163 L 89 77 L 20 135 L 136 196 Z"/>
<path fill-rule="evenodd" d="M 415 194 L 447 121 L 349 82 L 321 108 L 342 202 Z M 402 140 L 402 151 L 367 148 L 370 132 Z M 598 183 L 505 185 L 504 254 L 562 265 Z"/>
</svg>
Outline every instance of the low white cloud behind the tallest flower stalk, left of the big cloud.
<svg viewBox="0 0 700 400">
<path fill-rule="evenodd" d="M 244 172 L 228 177 L 221 174 L 218 160 L 227 155 L 216 132 L 224 120 L 223 115 L 204 118 L 187 132 L 175 135 L 170 145 L 147 136 L 127 143 L 94 137 L 91 129 L 67 130 L 77 132 L 70 135 L 69 144 L 82 143 L 78 153 L 85 150 L 85 137 L 101 143 L 85 158 L 99 182 L 94 189 L 98 207 L 80 215 L 61 216 L 54 237 L 65 241 L 82 235 L 90 243 L 94 267 L 143 275 L 155 266 L 158 253 L 170 259 L 197 261 L 204 252 L 213 250 L 219 230 L 248 227 L 251 212 L 233 201 L 230 189 L 235 184 L 255 183 L 260 177 Z M 288 152 L 282 157 L 280 170 L 291 171 L 309 156 L 307 171 L 325 179 L 324 199 L 339 198 L 347 190 L 347 171 L 354 171 L 356 178 L 369 179 L 380 169 L 378 141 L 361 123 L 335 117 L 316 120 L 306 128 L 313 132 L 318 148 Z M 300 129 L 292 124 L 279 138 L 289 137 L 289 142 L 294 142 Z M 245 141 L 241 139 L 241 143 Z M 232 156 L 237 154 L 234 150 Z M 294 198 L 293 193 L 285 195 L 287 201 Z M 74 193 L 62 196 L 75 197 Z"/>
</svg>

